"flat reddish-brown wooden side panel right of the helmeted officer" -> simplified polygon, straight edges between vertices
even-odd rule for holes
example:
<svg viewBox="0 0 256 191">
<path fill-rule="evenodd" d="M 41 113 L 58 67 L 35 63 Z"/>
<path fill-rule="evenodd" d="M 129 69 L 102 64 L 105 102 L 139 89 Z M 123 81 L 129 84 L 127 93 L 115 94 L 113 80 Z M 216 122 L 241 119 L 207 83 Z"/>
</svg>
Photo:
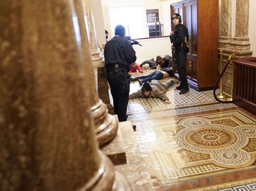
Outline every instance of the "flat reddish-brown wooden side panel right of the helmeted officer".
<svg viewBox="0 0 256 191">
<path fill-rule="evenodd" d="M 197 86 L 213 88 L 218 79 L 218 0 L 197 0 Z"/>
</svg>

